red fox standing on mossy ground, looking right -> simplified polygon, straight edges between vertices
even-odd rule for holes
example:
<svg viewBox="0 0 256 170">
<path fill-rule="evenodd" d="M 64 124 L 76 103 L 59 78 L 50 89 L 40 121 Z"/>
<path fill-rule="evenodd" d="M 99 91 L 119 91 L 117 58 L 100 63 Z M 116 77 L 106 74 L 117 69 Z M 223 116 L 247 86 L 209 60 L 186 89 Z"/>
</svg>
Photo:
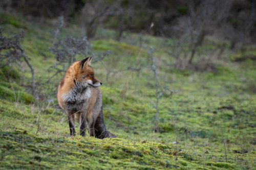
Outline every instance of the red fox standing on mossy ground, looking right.
<svg viewBox="0 0 256 170">
<path fill-rule="evenodd" d="M 106 130 L 102 113 L 102 84 L 91 67 L 92 56 L 74 62 L 66 71 L 58 85 L 57 99 L 59 106 L 68 117 L 70 135 L 75 136 L 75 120 L 79 123 L 80 135 L 97 138 L 116 138 Z"/>
</svg>

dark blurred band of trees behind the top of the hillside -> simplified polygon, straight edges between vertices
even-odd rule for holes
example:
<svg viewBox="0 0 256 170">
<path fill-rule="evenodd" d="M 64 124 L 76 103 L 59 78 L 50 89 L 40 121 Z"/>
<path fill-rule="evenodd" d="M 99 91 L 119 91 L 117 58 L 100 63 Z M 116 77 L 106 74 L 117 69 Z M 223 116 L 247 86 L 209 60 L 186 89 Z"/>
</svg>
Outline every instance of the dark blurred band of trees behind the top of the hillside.
<svg viewBox="0 0 256 170">
<path fill-rule="evenodd" d="M 155 36 L 177 37 L 197 32 L 196 37 L 191 37 L 194 49 L 206 35 L 229 40 L 231 49 L 256 41 L 254 0 L 3 0 L 0 5 L 28 18 L 80 17 L 88 38 L 94 37 L 99 25 L 115 29 L 119 40 L 123 31 L 148 32 L 153 22 L 150 34 Z M 185 32 L 177 29 L 184 27 L 188 29 Z"/>
</svg>

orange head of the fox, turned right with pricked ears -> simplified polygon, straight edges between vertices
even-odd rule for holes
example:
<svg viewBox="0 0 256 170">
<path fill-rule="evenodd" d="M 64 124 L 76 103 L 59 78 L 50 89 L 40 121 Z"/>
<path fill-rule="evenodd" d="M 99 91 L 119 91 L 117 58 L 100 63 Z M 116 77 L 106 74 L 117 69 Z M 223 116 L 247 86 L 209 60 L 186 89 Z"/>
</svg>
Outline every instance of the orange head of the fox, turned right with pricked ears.
<svg viewBox="0 0 256 170">
<path fill-rule="evenodd" d="M 93 68 L 91 67 L 91 57 L 84 58 L 81 61 L 75 63 L 73 67 L 74 71 L 74 83 L 81 83 L 87 87 L 98 87 L 102 83 L 94 76 Z"/>
</svg>

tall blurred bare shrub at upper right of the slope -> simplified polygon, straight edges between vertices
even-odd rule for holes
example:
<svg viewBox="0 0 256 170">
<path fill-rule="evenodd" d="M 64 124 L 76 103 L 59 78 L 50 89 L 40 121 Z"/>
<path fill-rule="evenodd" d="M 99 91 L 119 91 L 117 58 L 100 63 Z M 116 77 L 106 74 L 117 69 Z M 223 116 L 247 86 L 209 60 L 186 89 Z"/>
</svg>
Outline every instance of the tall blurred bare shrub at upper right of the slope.
<svg viewBox="0 0 256 170">
<path fill-rule="evenodd" d="M 184 68 L 186 65 L 192 64 L 205 37 L 213 35 L 216 28 L 226 22 L 231 3 L 232 0 L 207 0 L 201 1 L 199 4 L 190 1 L 189 15 L 180 17 L 178 19 L 178 25 L 174 27 L 175 30 L 179 30 L 182 35 L 181 38 L 176 40 L 174 45 L 176 47 L 177 45 L 183 46 L 179 47 L 178 53 L 176 52 L 174 55 L 178 58 L 177 65 Z M 205 54 L 202 56 L 205 56 Z"/>
</svg>

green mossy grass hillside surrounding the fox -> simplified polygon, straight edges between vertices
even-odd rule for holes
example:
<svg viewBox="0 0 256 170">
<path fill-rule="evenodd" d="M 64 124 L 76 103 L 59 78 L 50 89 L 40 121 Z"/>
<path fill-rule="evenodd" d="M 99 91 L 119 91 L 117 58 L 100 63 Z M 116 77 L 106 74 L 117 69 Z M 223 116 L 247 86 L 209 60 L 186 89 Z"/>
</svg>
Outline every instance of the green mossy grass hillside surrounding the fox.
<svg viewBox="0 0 256 170">
<path fill-rule="evenodd" d="M 25 32 L 22 45 L 35 68 L 36 82 L 46 81 L 52 75 L 48 68 L 56 62 L 48 51 L 55 41 L 56 20 L 40 23 L 4 13 L 0 18 L 5 36 L 20 29 Z M 57 39 L 80 33 L 79 25 L 66 23 Z M 108 68 L 141 68 L 107 78 L 101 62 L 92 64 L 95 76 L 103 82 L 106 127 L 118 138 L 100 140 L 88 133 L 85 138 L 70 137 L 67 117 L 56 100 L 62 76 L 38 86 L 34 98 L 29 94 L 26 65 L 6 66 L 0 70 L 0 169 L 255 169 L 254 61 L 234 63 L 229 59 L 240 53 L 225 52 L 222 59 L 212 61 L 212 70 L 174 69 L 172 39 L 125 33 L 117 42 L 114 36 L 114 31 L 100 29 L 89 40 L 88 55 L 111 50 L 103 60 Z M 215 43 L 208 40 L 200 50 L 214 48 Z M 160 98 L 159 133 L 154 132 L 156 110 L 151 106 L 156 85 L 147 53 L 150 46 L 155 48 L 160 84 L 178 90 Z M 248 53 L 255 51 L 248 48 Z"/>
</svg>

